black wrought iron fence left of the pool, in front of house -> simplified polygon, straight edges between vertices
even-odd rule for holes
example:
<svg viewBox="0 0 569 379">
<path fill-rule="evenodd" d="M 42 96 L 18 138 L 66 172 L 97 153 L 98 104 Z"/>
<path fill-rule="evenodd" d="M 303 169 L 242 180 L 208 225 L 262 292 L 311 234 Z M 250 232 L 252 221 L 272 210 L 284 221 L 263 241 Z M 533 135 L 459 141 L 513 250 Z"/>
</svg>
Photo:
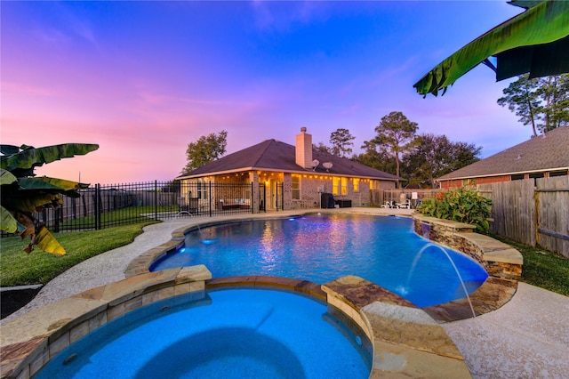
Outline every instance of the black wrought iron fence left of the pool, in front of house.
<svg viewBox="0 0 569 379">
<path fill-rule="evenodd" d="M 282 187 L 281 187 L 282 188 Z M 263 184 L 149 181 L 100 185 L 63 197 L 63 205 L 35 214 L 54 232 L 99 230 L 148 220 L 266 212 Z M 258 194 L 254 196 L 253 194 Z M 279 205 L 282 209 L 282 204 Z"/>
</svg>

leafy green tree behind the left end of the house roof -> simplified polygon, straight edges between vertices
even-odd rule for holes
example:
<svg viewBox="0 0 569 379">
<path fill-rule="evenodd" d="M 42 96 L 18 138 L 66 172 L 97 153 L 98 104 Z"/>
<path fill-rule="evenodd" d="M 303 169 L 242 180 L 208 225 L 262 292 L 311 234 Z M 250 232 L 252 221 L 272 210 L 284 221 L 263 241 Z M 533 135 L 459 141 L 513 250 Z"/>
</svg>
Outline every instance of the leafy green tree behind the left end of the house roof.
<svg viewBox="0 0 569 379">
<path fill-rule="evenodd" d="M 225 154 L 228 133 L 222 130 L 220 133 L 210 133 L 201 136 L 196 142 L 189 142 L 186 150 L 187 165 L 181 173 L 188 173 L 197 167 L 207 165 Z"/>
</svg>

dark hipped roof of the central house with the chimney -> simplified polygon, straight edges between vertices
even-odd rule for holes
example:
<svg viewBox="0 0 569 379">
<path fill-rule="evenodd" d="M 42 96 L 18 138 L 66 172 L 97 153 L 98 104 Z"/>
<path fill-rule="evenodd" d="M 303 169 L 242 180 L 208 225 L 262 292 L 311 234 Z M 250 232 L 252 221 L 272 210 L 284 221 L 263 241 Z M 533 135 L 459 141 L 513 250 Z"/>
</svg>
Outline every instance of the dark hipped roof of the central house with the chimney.
<svg viewBox="0 0 569 379">
<path fill-rule="evenodd" d="M 362 178 L 382 179 L 388 181 L 400 181 L 402 178 L 384 173 L 381 170 L 360 165 L 349 159 L 336 157 L 332 154 L 312 150 L 312 158 L 320 161 L 320 165 L 316 170 L 306 169 L 297 165 L 295 162 L 296 150 L 293 145 L 281 141 L 267 140 L 262 141 L 249 148 L 236 151 L 228 156 L 214 160 L 208 165 L 203 165 L 190 171 L 183 173 L 176 179 L 185 179 L 188 177 L 204 176 L 206 174 L 215 173 L 234 173 L 236 171 L 249 170 L 268 170 L 280 171 L 286 173 L 330 173 L 344 176 L 354 176 Z M 332 162 L 333 166 L 329 172 L 323 167 L 323 163 Z"/>
</svg>

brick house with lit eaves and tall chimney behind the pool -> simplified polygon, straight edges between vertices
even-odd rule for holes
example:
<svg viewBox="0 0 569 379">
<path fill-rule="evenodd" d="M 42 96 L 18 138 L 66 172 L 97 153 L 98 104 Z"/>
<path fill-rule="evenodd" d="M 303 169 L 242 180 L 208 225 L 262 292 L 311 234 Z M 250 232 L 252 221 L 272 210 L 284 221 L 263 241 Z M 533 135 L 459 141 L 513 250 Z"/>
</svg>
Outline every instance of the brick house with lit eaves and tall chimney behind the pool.
<svg viewBox="0 0 569 379">
<path fill-rule="evenodd" d="M 312 136 L 302 127 L 294 146 L 262 141 L 175 180 L 180 181 L 181 193 L 197 199 L 203 208 L 258 212 L 369 206 L 372 189 L 395 189 L 403 179 L 313 149 Z"/>
</svg>

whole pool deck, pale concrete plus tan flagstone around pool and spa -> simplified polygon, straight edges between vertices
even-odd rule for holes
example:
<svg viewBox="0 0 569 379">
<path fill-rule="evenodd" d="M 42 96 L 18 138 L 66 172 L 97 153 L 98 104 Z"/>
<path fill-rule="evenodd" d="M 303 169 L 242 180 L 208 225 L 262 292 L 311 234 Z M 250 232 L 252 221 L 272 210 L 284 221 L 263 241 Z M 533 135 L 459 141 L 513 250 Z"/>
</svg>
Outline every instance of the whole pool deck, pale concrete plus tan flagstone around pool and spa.
<svg viewBox="0 0 569 379">
<path fill-rule="evenodd" d="M 350 208 L 349 212 L 408 215 L 412 211 Z M 299 212 L 270 215 L 292 214 Z M 140 261 L 140 255 L 152 247 L 175 243 L 170 242 L 175 230 L 197 222 L 268 215 L 185 217 L 149 225 L 129 246 L 100 254 L 54 278 L 32 302 L 0 321 L 2 377 L 9 376 L 19 355 L 25 355 L 30 348 L 29 343 L 41 343 L 42 338 L 38 337 L 42 333 L 68 322 L 61 317 L 108 307 L 124 296 L 134 298 L 158 282 L 170 281 L 189 290 L 196 278 L 207 279 L 208 287 L 276 286 L 327 297 L 328 302 L 351 313 L 357 322 L 359 319 L 373 340 L 371 377 L 565 378 L 569 372 L 569 297 L 525 283 L 491 278 L 471 296 L 480 315 L 464 319 L 464 312 L 469 311 L 465 302 L 421 310 L 357 277 L 338 278 L 323 286 L 283 278 L 208 279 L 201 271 L 174 273 L 175 269 L 166 270 L 167 274 L 157 278 L 156 273 L 125 278 L 125 271 L 132 270 L 135 258 Z M 194 278 L 189 280 L 188 275 Z M 362 314 L 365 317 L 360 319 Z M 68 333 L 84 333 L 84 327 L 79 332 L 77 329 L 81 328 Z M 26 377 L 26 373 L 21 377 Z"/>
</svg>

